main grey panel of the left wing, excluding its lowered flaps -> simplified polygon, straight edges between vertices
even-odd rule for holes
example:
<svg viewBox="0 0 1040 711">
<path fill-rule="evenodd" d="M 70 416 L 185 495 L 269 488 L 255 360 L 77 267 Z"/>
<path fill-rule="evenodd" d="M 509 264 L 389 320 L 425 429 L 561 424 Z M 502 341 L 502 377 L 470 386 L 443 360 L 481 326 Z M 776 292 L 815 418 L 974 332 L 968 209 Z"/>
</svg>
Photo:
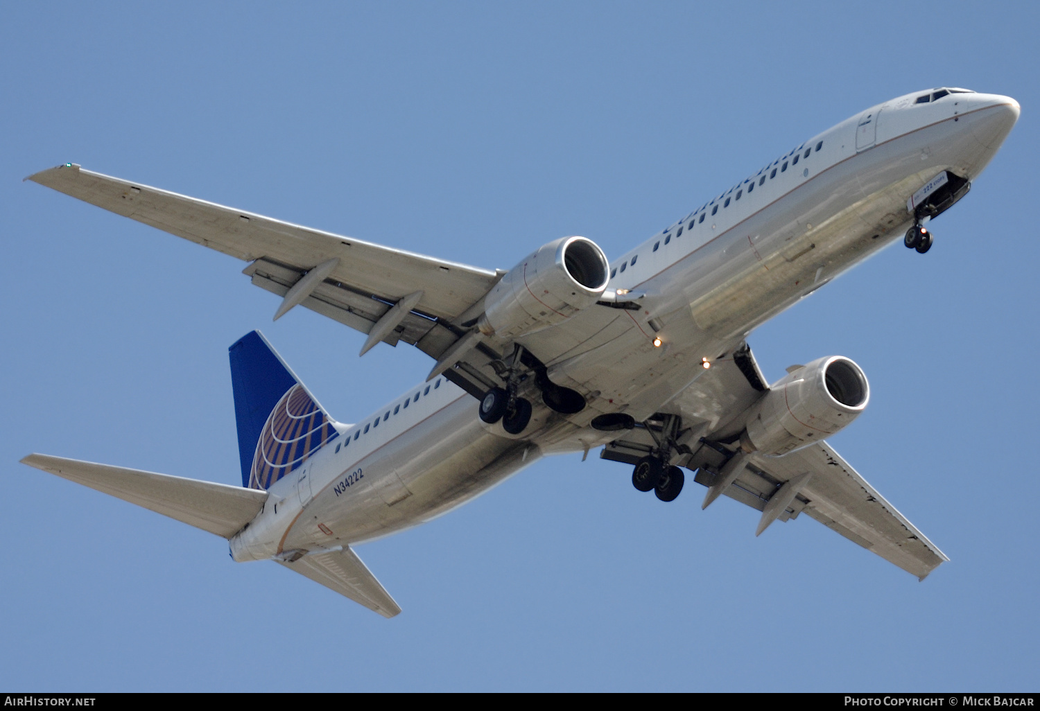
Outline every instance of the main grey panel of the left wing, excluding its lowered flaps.
<svg viewBox="0 0 1040 711">
<path fill-rule="evenodd" d="M 380 246 L 66 164 L 28 180 L 237 259 L 267 258 L 306 271 L 333 258 L 330 276 L 396 302 L 424 292 L 417 309 L 453 318 L 498 280 L 494 271 Z"/>
</svg>

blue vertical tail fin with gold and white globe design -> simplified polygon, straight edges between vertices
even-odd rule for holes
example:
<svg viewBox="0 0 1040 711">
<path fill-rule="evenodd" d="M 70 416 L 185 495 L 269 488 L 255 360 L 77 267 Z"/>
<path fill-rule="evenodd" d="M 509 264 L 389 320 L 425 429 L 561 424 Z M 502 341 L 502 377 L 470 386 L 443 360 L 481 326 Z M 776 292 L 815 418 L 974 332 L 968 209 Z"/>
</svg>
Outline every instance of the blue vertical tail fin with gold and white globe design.
<svg viewBox="0 0 1040 711">
<path fill-rule="evenodd" d="M 228 354 L 242 485 L 266 490 L 339 431 L 259 331 L 236 341 Z"/>
</svg>

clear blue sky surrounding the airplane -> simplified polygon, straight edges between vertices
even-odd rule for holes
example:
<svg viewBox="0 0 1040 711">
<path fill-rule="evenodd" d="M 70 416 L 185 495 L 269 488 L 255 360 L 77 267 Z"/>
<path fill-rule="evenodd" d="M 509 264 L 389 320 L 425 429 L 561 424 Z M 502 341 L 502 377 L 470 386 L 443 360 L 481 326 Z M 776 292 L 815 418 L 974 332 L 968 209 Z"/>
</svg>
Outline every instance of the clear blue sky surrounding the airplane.
<svg viewBox="0 0 1040 711">
<path fill-rule="evenodd" d="M 1036 690 L 1040 248 L 1032 3 L 8 4 L 0 23 L 0 687 Z M 359 547 L 392 621 L 28 469 L 38 451 L 239 478 L 227 347 L 261 328 L 340 420 L 422 379 L 242 264 L 38 185 L 74 161 L 360 239 L 509 268 L 627 251 L 764 162 L 920 88 L 1022 117 L 927 256 L 893 245 L 752 334 L 768 377 L 843 354 L 832 443 L 952 558 L 913 577 L 800 518 L 754 536 L 545 459 Z"/>
</svg>

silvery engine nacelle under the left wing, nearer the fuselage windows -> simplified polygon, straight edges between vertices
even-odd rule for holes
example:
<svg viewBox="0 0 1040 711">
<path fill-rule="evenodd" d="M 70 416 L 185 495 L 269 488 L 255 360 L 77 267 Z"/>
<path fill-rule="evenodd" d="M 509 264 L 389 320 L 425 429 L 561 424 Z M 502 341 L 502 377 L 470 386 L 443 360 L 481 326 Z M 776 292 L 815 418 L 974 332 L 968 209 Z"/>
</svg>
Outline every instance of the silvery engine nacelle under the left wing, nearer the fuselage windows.
<svg viewBox="0 0 1040 711">
<path fill-rule="evenodd" d="M 561 237 L 499 280 L 484 298 L 477 327 L 510 340 L 556 325 L 599 300 L 609 279 L 606 255 L 595 242 Z"/>
</svg>

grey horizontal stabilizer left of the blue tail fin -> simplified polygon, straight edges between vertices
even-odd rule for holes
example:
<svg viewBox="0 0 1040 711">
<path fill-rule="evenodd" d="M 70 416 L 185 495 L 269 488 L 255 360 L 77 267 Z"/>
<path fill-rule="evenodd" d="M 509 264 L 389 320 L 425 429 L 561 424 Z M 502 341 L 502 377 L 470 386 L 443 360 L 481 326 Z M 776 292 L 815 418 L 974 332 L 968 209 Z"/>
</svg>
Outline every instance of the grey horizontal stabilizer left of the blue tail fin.
<svg viewBox="0 0 1040 711">
<path fill-rule="evenodd" d="M 110 494 L 204 531 L 230 538 L 252 521 L 267 492 L 136 469 L 29 454 L 22 464 Z"/>
</svg>

